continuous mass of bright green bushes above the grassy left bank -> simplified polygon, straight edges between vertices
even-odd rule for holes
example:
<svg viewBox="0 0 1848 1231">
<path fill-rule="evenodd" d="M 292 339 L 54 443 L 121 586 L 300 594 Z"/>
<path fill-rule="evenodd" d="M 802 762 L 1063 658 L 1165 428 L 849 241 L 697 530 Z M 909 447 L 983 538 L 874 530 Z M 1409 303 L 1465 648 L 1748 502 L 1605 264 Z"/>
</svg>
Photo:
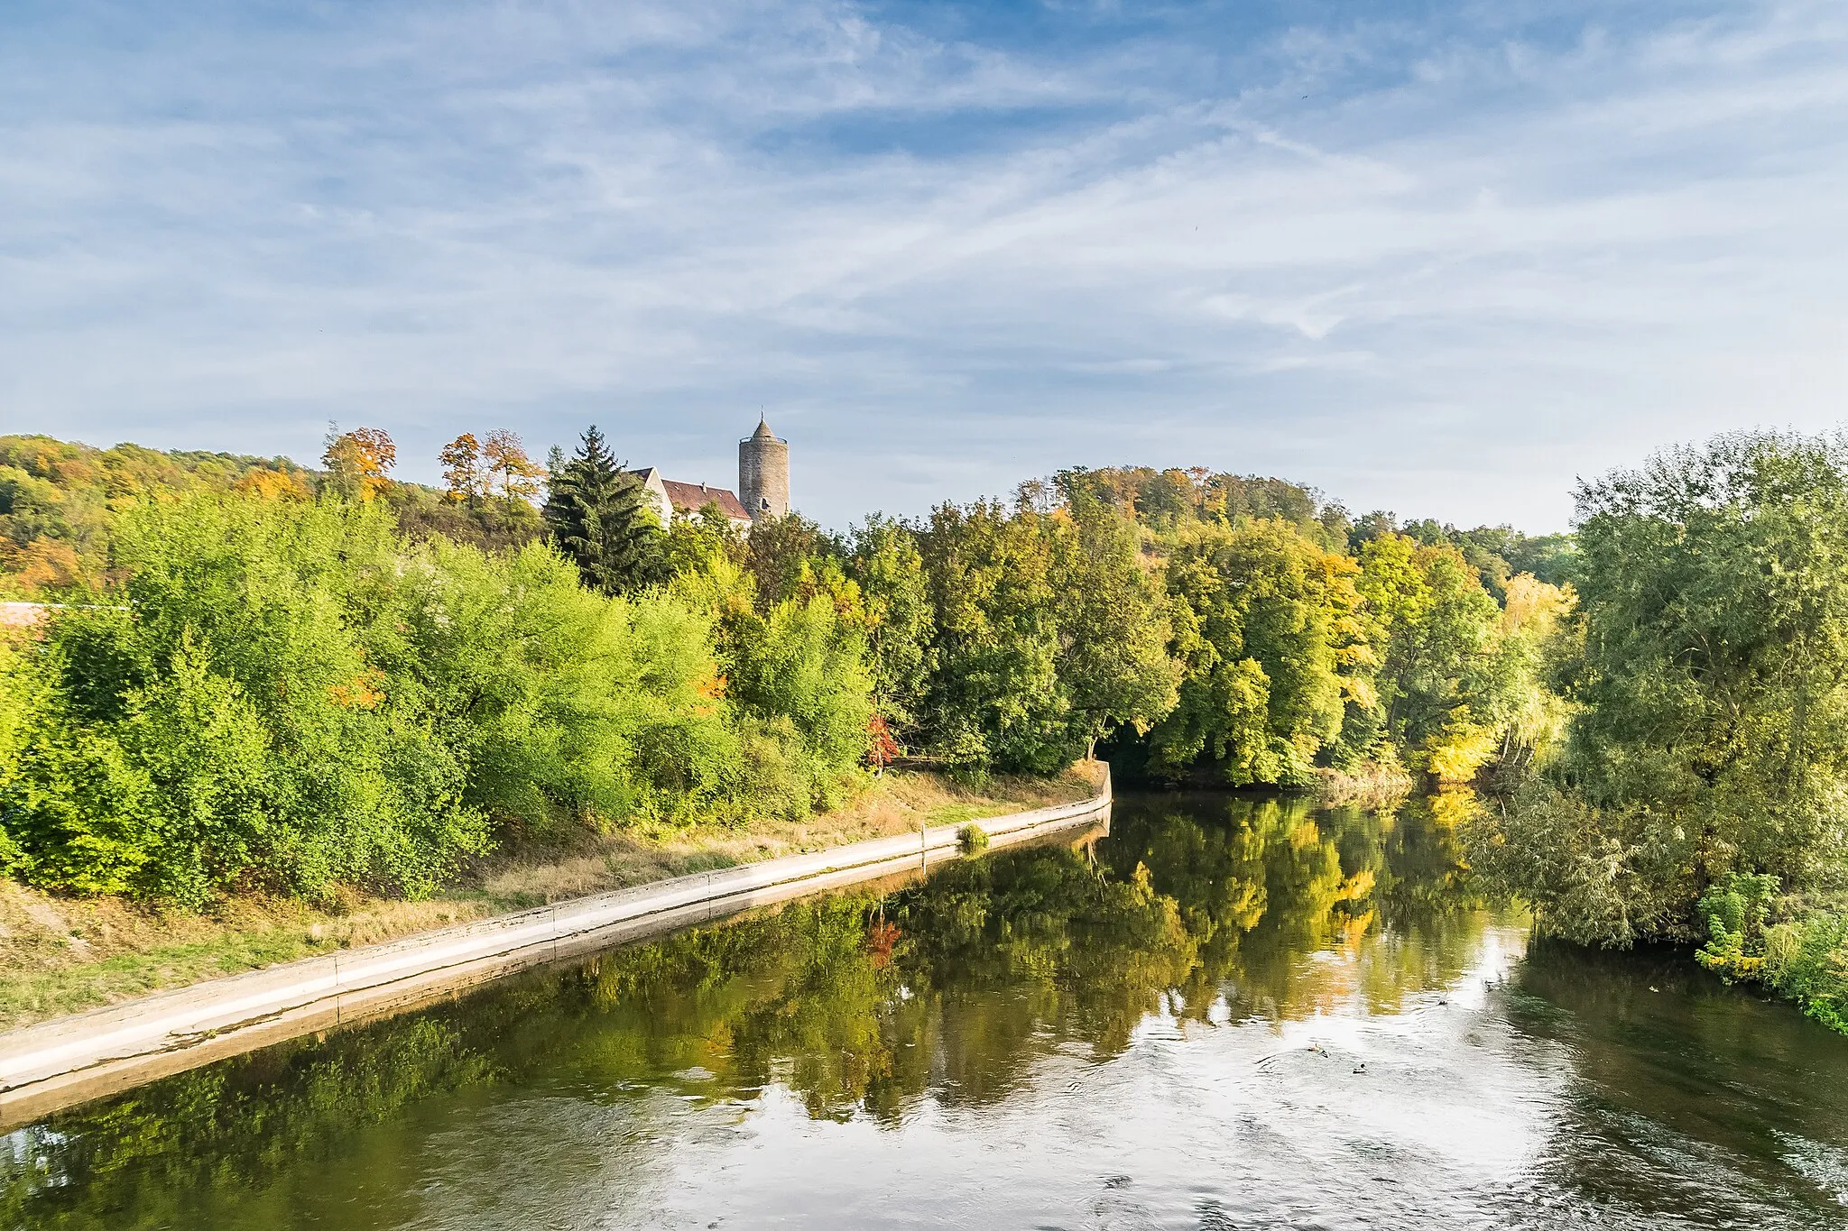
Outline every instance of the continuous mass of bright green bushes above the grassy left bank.
<svg viewBox="0 0 1848 1231">
<path fill-rule="evenodd" d="M 113 565 L 0 646 L 0 869 L 44 888 L 421 895 L 508 832 L 796 818 L 861 773 L 863 635 L 821 596 L 721 629 L 723 587 L 237 495 L 129 509 Z"/>
</svg>

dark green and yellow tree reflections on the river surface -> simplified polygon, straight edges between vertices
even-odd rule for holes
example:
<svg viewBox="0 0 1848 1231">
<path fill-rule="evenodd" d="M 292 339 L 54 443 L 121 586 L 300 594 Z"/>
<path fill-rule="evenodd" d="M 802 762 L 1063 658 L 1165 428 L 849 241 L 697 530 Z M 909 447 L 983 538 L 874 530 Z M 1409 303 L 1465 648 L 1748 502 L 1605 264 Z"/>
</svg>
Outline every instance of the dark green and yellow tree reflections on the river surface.
<svg viewBox="0 0 1848 1231">
<path fill-rule="evenodd" d="M 285 1225 L 349 1165 L 379 1194 L 366 1225 L 390 1225 L 416 1211 L 390 1128 L 493 1089 L 750 1104 L 778 1085 L 811 1118 L 896 1126 L 926 1098 L 1003 1100 L 1055 1048 L 1116 1056 L 1157 1013 L 1392 1011 L 1480 938 L 1464 807 L 1127 797 L 1094 845 L 796 902 L 55 1115 L 0 1152 L 0 1227 L 213 1225 L 255 1190 Z"/>
</svg>

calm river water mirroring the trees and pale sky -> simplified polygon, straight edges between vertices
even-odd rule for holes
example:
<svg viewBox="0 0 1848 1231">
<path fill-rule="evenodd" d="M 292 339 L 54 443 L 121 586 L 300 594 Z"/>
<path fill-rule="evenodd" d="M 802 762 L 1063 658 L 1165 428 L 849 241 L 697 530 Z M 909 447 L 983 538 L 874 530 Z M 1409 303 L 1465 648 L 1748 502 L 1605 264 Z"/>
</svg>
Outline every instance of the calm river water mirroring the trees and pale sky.
<svg viewBox="0 0 1848 1231">
<path fill-rule="evenodd" d="M 0 1137 L 0 1227 L 1844 1227 L 1848 1039 L 1530 943 L 1454 801 L 1125 795 Z"/>
</svg>

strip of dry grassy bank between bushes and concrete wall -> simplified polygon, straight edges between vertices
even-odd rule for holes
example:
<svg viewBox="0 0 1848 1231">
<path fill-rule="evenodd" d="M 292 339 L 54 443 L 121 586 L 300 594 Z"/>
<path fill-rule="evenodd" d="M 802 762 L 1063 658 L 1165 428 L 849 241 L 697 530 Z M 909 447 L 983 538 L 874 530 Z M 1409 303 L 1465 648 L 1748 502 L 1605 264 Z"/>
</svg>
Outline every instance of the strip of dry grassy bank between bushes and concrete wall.
<svg viewBox="0 0 1848 1231">
<path fill-rule="evenodd" d="M 800 823 L 695 825 L 656 834 L 577 831 L 479 862 L 425 901 L 340 893 L 331 908 L 227 897 L 203 912 L 120 897 L 54 897 L 0 880 L 0 1030 L 336 949 L 569 897 L 1087 799 L 1094 777 L 994 777 L 970 790 L 933 773 L 889 771 L 852 805 Z"/>
</svg>

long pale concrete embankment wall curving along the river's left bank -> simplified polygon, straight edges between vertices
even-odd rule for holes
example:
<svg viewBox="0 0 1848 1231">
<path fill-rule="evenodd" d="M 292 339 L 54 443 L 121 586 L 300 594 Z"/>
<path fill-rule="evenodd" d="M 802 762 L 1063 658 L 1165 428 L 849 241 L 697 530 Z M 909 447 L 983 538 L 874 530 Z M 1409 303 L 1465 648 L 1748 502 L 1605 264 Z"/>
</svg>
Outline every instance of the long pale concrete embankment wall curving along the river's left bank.
<svg viewBox="0 0 1848 1231">
<path fill-rule="evenodd" d="M 974 821 L 992 847 L 1107 823 L 1092 799 Z M 512 915 L 288 962 L 0 1034 L 0 1128 L 512 971 L 734 915 L 752 906 L 935 867 L 959 825 L 723 867 Z"/>
</svg>

